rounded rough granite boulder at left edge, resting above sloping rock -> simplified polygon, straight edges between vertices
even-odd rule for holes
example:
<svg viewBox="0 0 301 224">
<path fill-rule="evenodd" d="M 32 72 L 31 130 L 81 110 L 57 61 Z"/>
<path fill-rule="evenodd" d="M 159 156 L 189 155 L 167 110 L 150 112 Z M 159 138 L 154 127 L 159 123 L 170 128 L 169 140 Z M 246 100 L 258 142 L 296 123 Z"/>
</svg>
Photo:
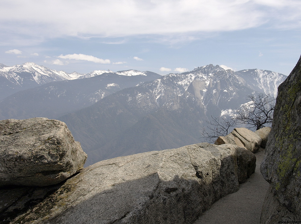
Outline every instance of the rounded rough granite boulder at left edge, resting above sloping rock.
<svg viewBox="0 0 301 224">
<path fill-rule="evenodd" d="M 0 186 L 57 184 L 83 168 L 86 158 L 64 122 L 0 121 Z"/>
</svg>

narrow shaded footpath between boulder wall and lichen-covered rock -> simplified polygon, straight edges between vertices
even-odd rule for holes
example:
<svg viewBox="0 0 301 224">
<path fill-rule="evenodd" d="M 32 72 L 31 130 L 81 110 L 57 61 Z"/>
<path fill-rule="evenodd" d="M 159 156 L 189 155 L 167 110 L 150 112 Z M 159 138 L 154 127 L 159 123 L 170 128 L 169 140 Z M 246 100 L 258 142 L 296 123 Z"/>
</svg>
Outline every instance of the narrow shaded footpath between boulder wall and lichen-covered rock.
<svg viewBox="0 0 301 224">
<path fill-rule="evenodd" d="M 260 173 L 264 150 L 255 153 L 256 170 L 239 190 L 216 201 L 194 224 L 259 224 L 269 184 Z"/>
</svg>

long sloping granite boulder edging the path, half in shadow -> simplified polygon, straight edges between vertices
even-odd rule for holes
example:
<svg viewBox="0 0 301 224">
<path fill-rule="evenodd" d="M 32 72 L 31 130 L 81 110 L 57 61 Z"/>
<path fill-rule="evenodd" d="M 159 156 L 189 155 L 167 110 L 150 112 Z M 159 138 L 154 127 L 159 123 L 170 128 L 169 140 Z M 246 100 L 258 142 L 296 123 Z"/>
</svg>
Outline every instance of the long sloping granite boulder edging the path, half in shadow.
<svg viewBox="0 0 301 224">
<path fill-rule="evenodd" d="M 20 189 L 0 190 L 0 198 L 14 195 L 2 202 L 9 206 L 0 219 L 5 224 L 189 224 L 237 191 L 255 161 L 244 148 L 208 143 L 113 158 L 80 170 L 57 189 L 31 189 L 23 196 Z M 35 194 L 44 199 L 33 203 Z M 32 207 L 26 208 L 26 201 Z"/>
</svg>

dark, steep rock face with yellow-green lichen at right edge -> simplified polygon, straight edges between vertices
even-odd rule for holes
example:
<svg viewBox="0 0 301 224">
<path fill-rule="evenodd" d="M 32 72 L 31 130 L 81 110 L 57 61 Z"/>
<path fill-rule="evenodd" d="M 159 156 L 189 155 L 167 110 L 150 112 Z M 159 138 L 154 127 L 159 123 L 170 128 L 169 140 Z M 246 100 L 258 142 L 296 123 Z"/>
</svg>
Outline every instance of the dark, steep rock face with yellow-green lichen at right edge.
<svg viewBox="0 0 301 224">
<path fill-rule="evenodd" d="M 272 130 L 260 170 L 271 187 L 266 200 L 273 202 L 265 203 L 261 223 L 300 221 L 301 57 L 278 87 Z"/>
</svg>

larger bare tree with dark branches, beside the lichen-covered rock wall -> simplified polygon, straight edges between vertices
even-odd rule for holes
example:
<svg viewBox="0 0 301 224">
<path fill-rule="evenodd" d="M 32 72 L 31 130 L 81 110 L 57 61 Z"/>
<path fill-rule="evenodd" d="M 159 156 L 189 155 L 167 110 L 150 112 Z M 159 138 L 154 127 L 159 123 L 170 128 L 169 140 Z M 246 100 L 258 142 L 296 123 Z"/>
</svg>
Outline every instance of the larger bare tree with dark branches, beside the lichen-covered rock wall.
<svg viewBox="0 0 301 224">
<path fill-rule="evenodd" d="M 265 124 L 271 124 L 275 109 L 275 98 L 264 94 L 249 95 L 247 97 L 250 102 L 236 110 L 234 117 L 236 123 L 247 124 L 250 128 L 256 128 L 256 130 L 265 127 Z"/>
</svg>

